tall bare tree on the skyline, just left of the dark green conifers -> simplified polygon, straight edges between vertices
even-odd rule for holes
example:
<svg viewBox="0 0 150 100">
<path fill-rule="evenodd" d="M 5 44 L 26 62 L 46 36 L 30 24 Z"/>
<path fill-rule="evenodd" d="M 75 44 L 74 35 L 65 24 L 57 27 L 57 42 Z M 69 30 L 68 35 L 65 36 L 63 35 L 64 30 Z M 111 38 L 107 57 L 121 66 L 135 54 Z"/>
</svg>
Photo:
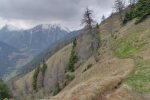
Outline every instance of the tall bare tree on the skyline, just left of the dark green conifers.
<svg viewBox="0 0 150 100">
<path fill-rule="evenodd" d="M 115 0 L 114 8 L 119 13 L 120 20 L 123 21 L 123 10 L 125 8 L 124 0 Z"/>
</svg>

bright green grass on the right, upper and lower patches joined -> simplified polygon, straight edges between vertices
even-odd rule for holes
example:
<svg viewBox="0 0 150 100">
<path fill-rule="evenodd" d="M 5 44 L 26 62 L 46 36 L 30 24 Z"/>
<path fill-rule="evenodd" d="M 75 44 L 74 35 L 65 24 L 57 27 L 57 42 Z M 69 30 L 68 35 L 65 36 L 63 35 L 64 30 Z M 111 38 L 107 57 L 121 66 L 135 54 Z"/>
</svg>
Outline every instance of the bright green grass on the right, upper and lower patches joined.
<svg viewBox="0 0 150 100">
<path fill-rule="evenodd" d="M 140 51 L 148 48 L 147 37 L 141 37 L 146 30 L 126 34 L 117 40 L 111 40 L 112 49 L 119 58 L 131 58 L 135 61 L 135 72 L 124 81 L 133 90 L 141 93 L 150 93 L 150 59 L 136 56 Z"/>
</svg>

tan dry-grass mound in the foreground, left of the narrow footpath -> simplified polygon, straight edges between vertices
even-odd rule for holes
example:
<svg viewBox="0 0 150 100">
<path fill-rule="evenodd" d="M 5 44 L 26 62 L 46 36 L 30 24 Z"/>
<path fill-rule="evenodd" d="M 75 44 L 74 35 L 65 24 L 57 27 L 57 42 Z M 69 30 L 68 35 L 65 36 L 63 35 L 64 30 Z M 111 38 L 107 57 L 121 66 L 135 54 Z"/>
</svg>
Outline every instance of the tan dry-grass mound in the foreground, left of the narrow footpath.
<svg viewBox="0 0 150 100">
<path fill-rule="evenodd" d="M 106 91 L 111 91 L 133 70 L 132 60 L 118 61 L 114 58 L 109 63 L 95 64 L 52 100 L 95 100 Z"/>
</svg>

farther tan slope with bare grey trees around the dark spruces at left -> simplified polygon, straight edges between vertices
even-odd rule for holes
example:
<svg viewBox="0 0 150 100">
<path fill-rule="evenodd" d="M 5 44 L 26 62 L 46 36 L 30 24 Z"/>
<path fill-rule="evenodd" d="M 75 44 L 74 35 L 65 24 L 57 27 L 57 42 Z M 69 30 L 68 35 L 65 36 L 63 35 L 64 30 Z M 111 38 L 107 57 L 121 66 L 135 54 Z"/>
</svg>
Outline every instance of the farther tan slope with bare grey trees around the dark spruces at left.
<svg viewBox="0 0 150 100">
<path fill-rule="evenodd" d="M 51 91 L 54 89 L 53 87 L 55 87 L 56 82 L 58 82 L 57 78 L 59 78 L 58 80 L 60 81 L 60 84 L 63 83 L 62 81 L 65 77 L 65 66 L 68 63 L 70 51 L 71 45 L 68 45 L 47 60 L 48 68 L 45 73 L 45 88 L 41 89 L 37 94 L 34 94 L 32 90 L 32 77 L 34 70 L 13 83 L 13 91 L 15 91 L 16 96 L 19 95 L 17 98 L 19 99 L 23 96 L 25 100 L 30 100 L 32 98 L 34 99 L 33 95 L 36 98 L 41 98 L 44 95 L 52 95 Z M 45 91 L 45 93 L 43 91 Z"/>
</svg>

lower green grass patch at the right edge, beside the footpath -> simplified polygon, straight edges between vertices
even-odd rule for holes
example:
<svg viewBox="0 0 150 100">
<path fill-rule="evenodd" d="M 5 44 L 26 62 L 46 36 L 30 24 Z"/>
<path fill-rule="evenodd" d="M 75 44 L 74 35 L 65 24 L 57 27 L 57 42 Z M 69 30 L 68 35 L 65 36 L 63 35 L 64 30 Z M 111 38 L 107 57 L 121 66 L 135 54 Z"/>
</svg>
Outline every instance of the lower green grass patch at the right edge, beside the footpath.
<svg viewBox="0 0 150 100">
<path fill-rule="evenodd" d="M 128 76 L 125 83 L 138 92 L 150 92 L 150 59 L 139 63 L 135 73 Z"/>
</svg>

